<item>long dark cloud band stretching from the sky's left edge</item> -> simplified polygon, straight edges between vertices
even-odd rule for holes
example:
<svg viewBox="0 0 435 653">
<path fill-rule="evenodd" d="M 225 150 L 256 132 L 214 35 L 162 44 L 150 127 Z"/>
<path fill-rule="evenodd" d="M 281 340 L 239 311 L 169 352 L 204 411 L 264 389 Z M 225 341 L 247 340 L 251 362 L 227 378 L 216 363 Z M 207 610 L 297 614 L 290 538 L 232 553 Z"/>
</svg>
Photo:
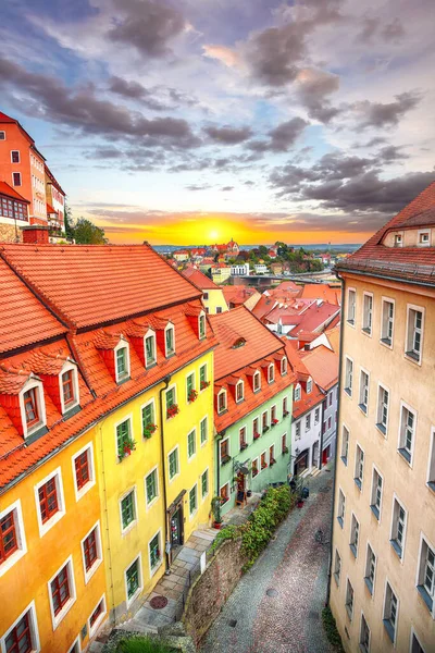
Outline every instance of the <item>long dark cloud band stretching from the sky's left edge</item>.
<svg viewBox="0 0 435 653">
<path fill-rule="evenodd" d="M 0 58 L 0 88 L 5 86 L 21 97 L 22 111 L 32 118 L 76 127 L 87 134 L 119 139 L 134 137 L 139 139 L 139 145 L 150 147 L 191 148 L 200 145 L 200 139 L 183 119 L 147 119 L 139 112 L 100 99 L 91 85 L 70 88 L 55 77 L 29 73 Z M 27 98 L 24 99 L 24 95 Z"/>
</svg>

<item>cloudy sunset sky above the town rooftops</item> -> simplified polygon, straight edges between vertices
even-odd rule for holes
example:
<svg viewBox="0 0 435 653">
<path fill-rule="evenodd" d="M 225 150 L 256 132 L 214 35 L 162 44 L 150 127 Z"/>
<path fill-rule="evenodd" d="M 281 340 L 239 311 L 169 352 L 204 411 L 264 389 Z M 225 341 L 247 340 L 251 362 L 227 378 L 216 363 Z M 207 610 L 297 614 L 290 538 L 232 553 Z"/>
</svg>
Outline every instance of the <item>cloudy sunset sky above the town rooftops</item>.
<svg viewBox="0 0 435 653">
<path fill-rule="evenodd" d="M 433 0 L 3 0 L 0 110 L 113 243 L 362 243 L 435 178 Z"/>
</svg>

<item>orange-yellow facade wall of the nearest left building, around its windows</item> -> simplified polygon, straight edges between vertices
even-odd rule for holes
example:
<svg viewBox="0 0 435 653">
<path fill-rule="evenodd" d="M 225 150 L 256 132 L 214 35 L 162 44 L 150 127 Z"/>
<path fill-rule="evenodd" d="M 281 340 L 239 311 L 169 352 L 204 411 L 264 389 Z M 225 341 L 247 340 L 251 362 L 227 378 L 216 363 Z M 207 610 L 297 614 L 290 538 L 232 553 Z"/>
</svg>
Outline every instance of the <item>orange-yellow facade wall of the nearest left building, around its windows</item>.
<svg viewBox="0 0 435 653">
<path fill-rule="evenodd" d="M 35 601 L 41 651 L 66 652 L 73 645 L 83 626 L 105 592 L 104 559 L 85 584 L 82 558 L 82 539 L 100 519 L 98 475 L 97 482 L 76 501 L 72 456 L 92 442 L 95 431 L 88 431 L 51 460 L 28 475 L 0 497 L 0 512 L 21 500 L 27 553 L 0 577 L 0 637 L 9 630 L 21 613 Z M 35 485 L 61 468 L 65 514 L 42 537 L 36 512 Z M 76 601 L 53 631 L 48 581 L 73 559 Z M 88 638 L 82 641 L 82 648 Z"/>
</svg>

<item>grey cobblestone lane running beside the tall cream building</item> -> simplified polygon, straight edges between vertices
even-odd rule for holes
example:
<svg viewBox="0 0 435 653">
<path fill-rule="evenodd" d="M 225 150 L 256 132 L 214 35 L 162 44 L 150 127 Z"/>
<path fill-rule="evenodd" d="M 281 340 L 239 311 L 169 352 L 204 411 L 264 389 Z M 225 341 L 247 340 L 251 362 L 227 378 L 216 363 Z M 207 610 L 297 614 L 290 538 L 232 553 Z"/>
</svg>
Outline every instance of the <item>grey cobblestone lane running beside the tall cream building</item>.
<svg viewBox="0 0 435 653">
<path fill-rule="evenodd" d="M 201 653 L 333 653 L 322 627 L 332 476 L 323 470 L 310 478 L 309 500 L 290 513 L 243 577 L 206 636 Z M 318 529 L 325 534 L 323 544 L 315 540 Z M 277 594 L 268 595 L 270 589 Z"/>
</svg>

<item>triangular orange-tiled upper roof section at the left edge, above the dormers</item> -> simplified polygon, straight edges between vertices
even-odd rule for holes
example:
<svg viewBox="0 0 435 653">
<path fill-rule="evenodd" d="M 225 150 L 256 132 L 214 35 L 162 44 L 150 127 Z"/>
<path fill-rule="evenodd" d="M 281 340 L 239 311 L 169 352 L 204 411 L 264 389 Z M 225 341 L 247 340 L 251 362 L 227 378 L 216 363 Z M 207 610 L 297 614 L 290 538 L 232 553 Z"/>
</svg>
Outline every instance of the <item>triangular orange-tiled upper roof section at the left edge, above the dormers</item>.
<svg viewBox="0 0 435 653">
<path fill-rule="evenodd" d="M 66 328 L 0 259 L 0 354 L 57 337 Z"/>
</svg>

